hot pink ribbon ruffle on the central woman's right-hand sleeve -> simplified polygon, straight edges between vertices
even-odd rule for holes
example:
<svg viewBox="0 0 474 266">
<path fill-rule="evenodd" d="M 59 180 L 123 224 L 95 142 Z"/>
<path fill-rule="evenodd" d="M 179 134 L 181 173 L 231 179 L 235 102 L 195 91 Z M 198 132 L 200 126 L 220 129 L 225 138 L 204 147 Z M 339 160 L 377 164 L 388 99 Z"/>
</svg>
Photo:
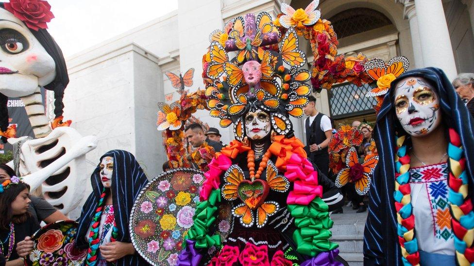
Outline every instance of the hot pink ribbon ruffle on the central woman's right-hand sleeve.
<svg viewBox="0 0 474 266">
<path fill-rule="evenodd" d="M 322 187 L 318 185 L 318 172 L 306 158 L 292 154 L 287 163 L 285 176 L 293 182 L 287 203 L 307 205 L 316 197 L 322 196 Z"/>
</svg>

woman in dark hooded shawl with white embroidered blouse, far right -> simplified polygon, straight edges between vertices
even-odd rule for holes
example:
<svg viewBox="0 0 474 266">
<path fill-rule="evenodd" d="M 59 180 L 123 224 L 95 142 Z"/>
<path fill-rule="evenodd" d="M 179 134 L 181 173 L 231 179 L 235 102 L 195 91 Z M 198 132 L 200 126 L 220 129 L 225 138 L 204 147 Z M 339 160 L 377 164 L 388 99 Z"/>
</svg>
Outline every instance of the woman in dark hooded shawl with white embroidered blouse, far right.
<svg viewBox="0 0 474 266">
<path fill-rule="evenodd" d="M 474 121 L 438 68 L 391 81 L 375 126 L 365 265 L 472 265 Z"/>
</svg>

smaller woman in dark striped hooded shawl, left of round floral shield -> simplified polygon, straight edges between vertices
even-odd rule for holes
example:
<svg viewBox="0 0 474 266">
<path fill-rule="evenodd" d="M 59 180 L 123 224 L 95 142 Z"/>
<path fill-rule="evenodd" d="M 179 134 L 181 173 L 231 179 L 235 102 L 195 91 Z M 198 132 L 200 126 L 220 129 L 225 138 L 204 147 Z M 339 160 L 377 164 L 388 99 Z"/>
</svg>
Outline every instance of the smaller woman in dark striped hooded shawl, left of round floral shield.
<svg viewBox="0 0 474 266">
<path fill-rule="evenodd" d="M 77 246 L 88 249 L 84 265 L 149 265 L 135 252 L 129 234 L 135 198 L 148 184 L 135 156 L 122 150 L 107 152 L 90 179 L 92 193 L 84 204 L 76 237 Z"/>
</svg>

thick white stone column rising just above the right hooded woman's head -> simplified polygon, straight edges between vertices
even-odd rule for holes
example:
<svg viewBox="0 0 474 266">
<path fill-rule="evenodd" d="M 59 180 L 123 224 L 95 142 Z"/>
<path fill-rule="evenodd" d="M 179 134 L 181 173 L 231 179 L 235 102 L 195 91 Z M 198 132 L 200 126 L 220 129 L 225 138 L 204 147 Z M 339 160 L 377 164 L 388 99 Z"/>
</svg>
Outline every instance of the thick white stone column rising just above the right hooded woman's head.
<svg viewBox="0 0 474 266">
<path fill-rule="evenodd" d="M 415 0 L 424 66 L 439 67 L 449 79 L 457 76 L 453 47 L 441 0 Z"/>
</svg>

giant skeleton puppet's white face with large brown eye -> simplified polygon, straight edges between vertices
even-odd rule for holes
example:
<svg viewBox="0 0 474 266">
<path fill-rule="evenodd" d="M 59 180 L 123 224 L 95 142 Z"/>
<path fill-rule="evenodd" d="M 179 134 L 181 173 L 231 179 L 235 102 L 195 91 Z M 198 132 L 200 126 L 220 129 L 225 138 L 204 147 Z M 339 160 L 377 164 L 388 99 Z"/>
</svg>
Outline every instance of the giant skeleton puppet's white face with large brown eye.
<svg viewBox="0 0 474 266">
<path fill-rule="evenodd" d="M 33 94 L 56 76 L 52 57 L 16 16 L 0 8 L 0 93 Z"/>
</svg>

